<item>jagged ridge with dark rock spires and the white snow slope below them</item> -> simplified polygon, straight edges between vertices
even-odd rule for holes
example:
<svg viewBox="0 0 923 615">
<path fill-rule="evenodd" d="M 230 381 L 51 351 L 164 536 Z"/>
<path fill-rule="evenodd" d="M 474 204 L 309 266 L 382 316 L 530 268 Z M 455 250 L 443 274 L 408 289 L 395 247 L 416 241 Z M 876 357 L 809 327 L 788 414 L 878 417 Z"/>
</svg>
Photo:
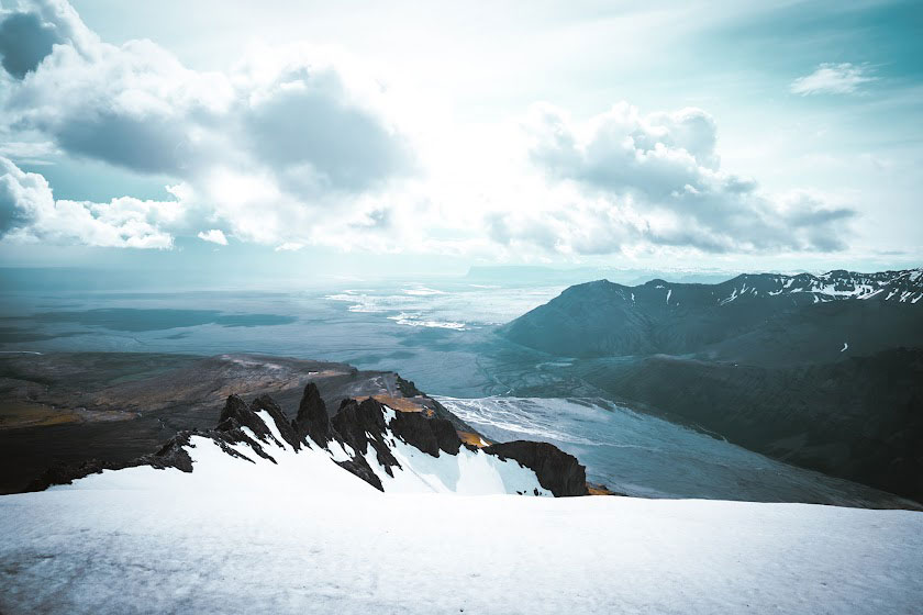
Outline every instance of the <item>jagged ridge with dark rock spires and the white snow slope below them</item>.
<svg viewBox="0 0 923 615">
<path fill-rule="evenodd" d="M 479 440 L 479 441 L 478 441 Z M 268 395 L 249 405 L 231 395 L 218 427 L 180 432 L 160 450 L 126 463 L 87 462 L 57 468 L 47 482 L 76 481 L 81 489 L 144 488 L 159 474 L 196 474 L 199 484 L 236 489 L 265 481 L 297 485 L 325 477 L 336 489 L 460 494 L 567 496 L 588 493 L 585 468 L 545 443 L 478 446 L 463 443 L 452 423 L 424 412 L 401 412 L 372 398 L 345 400 L 331 418 L 309 383 L 289 421 Z"/>
</svg>

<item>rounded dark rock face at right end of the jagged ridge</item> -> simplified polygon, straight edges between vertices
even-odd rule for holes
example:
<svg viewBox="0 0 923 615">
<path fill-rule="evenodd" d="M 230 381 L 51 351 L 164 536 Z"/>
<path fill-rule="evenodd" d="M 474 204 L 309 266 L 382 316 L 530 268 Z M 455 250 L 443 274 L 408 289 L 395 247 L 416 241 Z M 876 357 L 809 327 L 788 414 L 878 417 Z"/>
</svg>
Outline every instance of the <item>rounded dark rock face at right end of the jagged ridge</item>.
<svg viewBox="0 0 923 615">
<path fill-rule="evenodd" d="M 488 455 L 515 459 L 538 477 L 538 482 L 555 497 L 588 495 L 587 469 L 572 455 L 547 443 L 515 440 L 483 448 Z"/>
</svg>

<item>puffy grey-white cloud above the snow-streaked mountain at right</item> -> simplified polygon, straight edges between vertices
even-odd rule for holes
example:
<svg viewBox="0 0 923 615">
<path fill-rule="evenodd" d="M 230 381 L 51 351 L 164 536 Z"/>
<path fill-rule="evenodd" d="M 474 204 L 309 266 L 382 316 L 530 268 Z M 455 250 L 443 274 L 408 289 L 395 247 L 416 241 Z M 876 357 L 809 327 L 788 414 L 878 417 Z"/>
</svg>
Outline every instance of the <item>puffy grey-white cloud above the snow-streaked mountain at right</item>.
<svg viewBox="0 0 923 615">
<path fill-rule="evenodd" d="M 830 251 L 845 245 L 845 223 L 855 214 L 816 198 L 774 198 L 753 179 L 721 170 L 716 124 L 698 109 L 642 116 L 620 103 L 578 124 L 566 112 L 540 104 L 525 127 L 530 157 L 540 169 L 607 203 L 569 205 L 564 209 L 571 213 L 563 217 L 591 228 L 623 227 L 571 242 L 583 254 L 640 239 L 708 253 Z M 559 224 L 560 217 L 544 226 Z"/>
</svg>

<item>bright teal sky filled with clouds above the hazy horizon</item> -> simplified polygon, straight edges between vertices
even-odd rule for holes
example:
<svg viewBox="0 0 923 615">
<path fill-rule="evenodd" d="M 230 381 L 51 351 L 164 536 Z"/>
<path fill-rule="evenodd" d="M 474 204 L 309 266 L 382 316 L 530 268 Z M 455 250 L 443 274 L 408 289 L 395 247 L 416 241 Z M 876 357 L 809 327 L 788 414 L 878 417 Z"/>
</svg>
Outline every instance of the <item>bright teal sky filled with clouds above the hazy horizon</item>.
<svg viewBox="0 0 923 615">
<path fill-rule="evenodd" d="M 0 0 L 0 264 L 920 266 L 920 2 Z"/>
</svg>

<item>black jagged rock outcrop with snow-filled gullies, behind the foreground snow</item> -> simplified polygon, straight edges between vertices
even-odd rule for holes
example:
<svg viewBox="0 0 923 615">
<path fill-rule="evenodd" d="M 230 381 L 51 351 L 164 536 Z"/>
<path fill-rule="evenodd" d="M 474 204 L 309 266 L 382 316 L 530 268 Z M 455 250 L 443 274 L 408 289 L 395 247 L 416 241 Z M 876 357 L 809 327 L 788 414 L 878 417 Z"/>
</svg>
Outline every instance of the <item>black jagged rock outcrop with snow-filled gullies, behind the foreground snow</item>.
<svg viewBox="0 0 923 615">
<path fill-rule="evenodd" d="M 198 446 L 208 446 L 201 440 L 193 440 L 193 437 L 210 439 L 226 455 L 251 463 L 260 462 L 262 458 L 278 465 L 281 459 L 279 455 L 291 455 L 292 450 L 296 454 L 309 455 L 320 451 L 379 491 L 385 491 L 382 480 L 394 479 L 397 472 L 407 472 L 402 474 L 404 478 L 401 480 L 404 481 L 412 476 L 416 477 L 414 480 L 424 480 L 414 473 L 414 468 L 403 468 L 401 461 L 408 463 L 409 459 L 420 459 L 420 454 L 442 459 L 443 456 L 458 456 L 464 452 L 469 459 L 479 460 L 479 463 L 502 468 L 498 470 L 500 473 L 497 476 L 505 485 L 505 492 L 535 495 L 551 492 L 556 496 L 588 494 L 583 467 L 577 459 L 553 445 L 515 441 L 478 449 L 463 445 L 453 423 L 446 418 L 424 412 L 397 411 L 372 398 L 362 402 L 344 400 L 331 418 L 318 388 L 313 384 L 304 388 L 293 421 L 289 421 L 282 409 L 268 395 L 260 395 L 251 404 L 237 395 L 230 395 L 214 429 L 180 432 L 157 452 L 124 463 L 91 460 L 76 466 L 58 466 L 36 481 L 33 489 L 41 490 L 51 484 L 68 483 L 103 470 L 137 466 L 175 468 L 192 472 L 194 463 L 190 450 Z M 399 461 L 396 457 L 398 440 L 419 452 L 408 452 L 413 449 L 403 448 Z M 307 449 L 313 449 L 315 452 L 308 452 Z M 467 461 L 471 462 L 474 461 Z M 510 466 L 512 462 L 514 465 Z M 424 467 L 429 468 L 429 465 Z M 424 473 L 431 472 L 432 470 L 427 469 Z M 457 474 L 458 469 L 449 471 L 448 474 L 453 472 Z M 527 488 L 523 487 L 523 477 L 526 477 Z M 458 480 L 457 476 L 455 480 Z M 452 483 L 451 480 L 448 482 Z M 518 487 L 511 487 L 513 484 Z M 444 488 L 445 483 L 440 489 Z"/>
</svg>

